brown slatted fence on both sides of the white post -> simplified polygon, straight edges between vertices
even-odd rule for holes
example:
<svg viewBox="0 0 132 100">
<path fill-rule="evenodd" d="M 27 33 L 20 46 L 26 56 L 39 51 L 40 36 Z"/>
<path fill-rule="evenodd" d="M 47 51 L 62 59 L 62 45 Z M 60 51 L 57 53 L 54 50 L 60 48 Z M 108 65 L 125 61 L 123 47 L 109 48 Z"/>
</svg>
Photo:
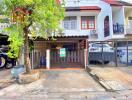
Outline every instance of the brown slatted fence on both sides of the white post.
<svg viewBox="0 0 132 100">
<path fill-rule="evenodd" d="M 33 50 L 32 53 L 30 54 L 32 68 L 39 68 L 39 67 L 46 66 L 46 57 L 42 59 L 41 53 L 42 52 L 40 52 L 39 50 Z M 76 63 L 76 64 L 80 64 L 84 66 L 85 65 L 84 50 L 83 49 L 82 50 L 66 50 L 66 57 L 60 57 L 59 50 L 51 49 L 50 63 L 55 64 L 55 66 L 56 64 L 60 64 L 60 63 L 61 63 L 61 66 L 67 63 L 69 64 Z"/>
</svg>

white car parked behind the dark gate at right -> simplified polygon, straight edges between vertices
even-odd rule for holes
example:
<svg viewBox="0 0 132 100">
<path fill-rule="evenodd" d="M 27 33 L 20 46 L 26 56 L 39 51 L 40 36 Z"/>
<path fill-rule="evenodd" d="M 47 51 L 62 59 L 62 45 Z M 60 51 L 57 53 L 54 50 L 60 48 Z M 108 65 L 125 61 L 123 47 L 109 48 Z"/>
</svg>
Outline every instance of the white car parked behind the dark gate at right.
<svg viewBox="0 0 132 100">
<path fill-rule="evenodd" d="M 104 64 L 114 61 L 114 49 L 109 44 L 90 43 L 89 44 L 89 61 L 101 62 Z"/>
</svg>

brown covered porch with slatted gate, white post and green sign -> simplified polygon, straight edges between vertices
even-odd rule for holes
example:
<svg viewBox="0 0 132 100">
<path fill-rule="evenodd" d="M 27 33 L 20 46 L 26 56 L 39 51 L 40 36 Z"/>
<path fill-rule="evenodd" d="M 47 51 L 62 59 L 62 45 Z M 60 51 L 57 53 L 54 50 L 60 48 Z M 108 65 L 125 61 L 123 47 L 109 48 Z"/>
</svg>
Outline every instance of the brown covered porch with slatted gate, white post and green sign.
<svg viewBox="0 0 132 100">
<path fill-rule="evenodd" d="M 82 69 L 86 66 L 88 36 L 61 36 L 36 39 L 32 67 L 42 69 Z"/>
</svg>

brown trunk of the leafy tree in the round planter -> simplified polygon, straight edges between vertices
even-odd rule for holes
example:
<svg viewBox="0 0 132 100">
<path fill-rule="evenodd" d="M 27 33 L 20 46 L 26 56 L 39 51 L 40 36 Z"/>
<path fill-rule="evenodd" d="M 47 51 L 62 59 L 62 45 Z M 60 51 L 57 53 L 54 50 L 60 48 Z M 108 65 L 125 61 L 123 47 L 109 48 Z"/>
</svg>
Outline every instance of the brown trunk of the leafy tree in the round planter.
<svg viewBox="0 0 132 100">
<path fill-rule="evenodd" d="M 24 29 L 24 66 L 26 67 L 26 73 L 31 72 L 31 64 L 30 64 L 30 58 L 29 58 L 29 41 L 28 41 L 28 27 L 25 27 Z"/>
</svg>

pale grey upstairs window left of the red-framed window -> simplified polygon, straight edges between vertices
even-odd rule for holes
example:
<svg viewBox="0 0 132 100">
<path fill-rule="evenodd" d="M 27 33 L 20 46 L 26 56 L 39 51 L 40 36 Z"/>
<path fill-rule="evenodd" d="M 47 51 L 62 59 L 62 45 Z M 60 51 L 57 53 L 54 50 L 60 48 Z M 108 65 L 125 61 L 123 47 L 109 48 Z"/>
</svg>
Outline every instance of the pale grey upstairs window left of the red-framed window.
<svg viewBox="0 0 132 100">
<path fill-rule="evenodd" d="M 63 21 L 63 27 L 66 30 L 74 30 L 77 28 L 77 18 L 76 16 L 65 17 Z"/>
</svg>

